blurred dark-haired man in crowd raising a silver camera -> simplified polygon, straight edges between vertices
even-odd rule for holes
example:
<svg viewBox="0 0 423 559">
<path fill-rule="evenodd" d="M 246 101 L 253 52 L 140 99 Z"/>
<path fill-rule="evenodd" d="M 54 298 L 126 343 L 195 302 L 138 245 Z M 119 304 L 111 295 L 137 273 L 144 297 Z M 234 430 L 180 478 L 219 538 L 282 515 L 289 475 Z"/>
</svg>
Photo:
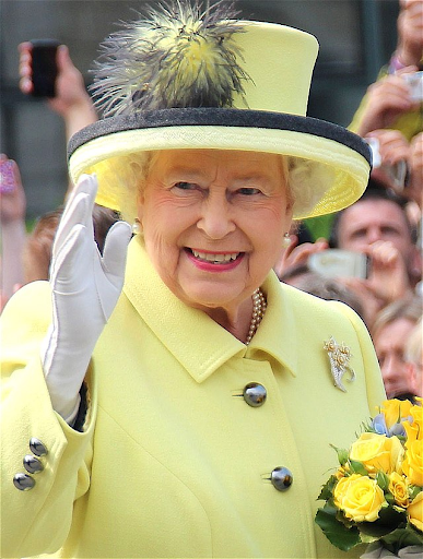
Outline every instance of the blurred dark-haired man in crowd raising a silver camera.
<svg viewBox="0 0 423 559">
<path fill-rule="evenodd" d="M 415 228 L 404 210 L 407 201 L 372 181 L 363 197 L 339 212 L 329 241 L 289 247 L 277 263 L 279 277 L 294 266 L 307 264 L 316 252 L 329 247 L 361 252 L 369 258 L 366 278 L 338 278 L 361 299 L 366 323 L 390 302 L 414 293 L 421 281 L 421 252 Z"/>
</svg>

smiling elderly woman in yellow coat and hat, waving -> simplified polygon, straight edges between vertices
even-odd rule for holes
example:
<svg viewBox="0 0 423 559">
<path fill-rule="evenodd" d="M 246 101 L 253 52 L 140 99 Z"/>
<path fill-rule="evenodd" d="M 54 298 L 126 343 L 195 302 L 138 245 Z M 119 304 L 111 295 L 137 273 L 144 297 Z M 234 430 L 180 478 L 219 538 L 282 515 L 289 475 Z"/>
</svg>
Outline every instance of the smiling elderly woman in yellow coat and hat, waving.
<svg viewBox="0 0 423 559">
<path fill-rule="evenodd" d="M 316 499 L 380 372 L 272 266 L 292 217 L 362 194 L 367 147 L 305 117 L 314 37 L 174 8 L 106 41 L 50 283 L 3 312 L 2 557 L 339 555 Z"/>
</svg>

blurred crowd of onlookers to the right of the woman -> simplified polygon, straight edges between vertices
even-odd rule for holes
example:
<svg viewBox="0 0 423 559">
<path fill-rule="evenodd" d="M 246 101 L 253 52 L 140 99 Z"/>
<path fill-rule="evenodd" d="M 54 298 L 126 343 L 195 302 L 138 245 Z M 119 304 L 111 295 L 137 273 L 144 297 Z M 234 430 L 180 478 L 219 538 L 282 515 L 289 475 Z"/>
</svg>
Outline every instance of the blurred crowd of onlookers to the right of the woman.
<svg viewBox="0 0 423 559">
<path fill-rule="evenodd" d="M 423 308 L 423 82 L 412 86 L 414 76 L 421 80 L 422 69 L 423 3 L 404 0 L 400 2 L 397 49 L 368 87 L 349 127 L 373 150 L 366 192 L 334 216 L 327 238 L 298 243 L 302 235 L 294 228 L 292 245 L 275 266 L 281 281 L 322 298 L 343 300 L 359 312 L 373 336 L 389 397 L 423 394 L 421 376 L 410 373 L 421 371 L 423 356 L 414 354 L 413 365 L 407 357 L 410 329 L 415 325 L 415 337 L 423 335 L 419 323 Z M 366 254 L 367 273 L 359 277 L 341 273 L 336 278 L 327 277 L 324 270 L 318 274 L 310 265 L 312 254 L 331 249 Z M 398 306 L 411 307 L 413 318 L 407 314 L 402 320 L 410 329 L 398 330 L 392 337 L 380 324 L 386 314 L 396 314 Z M 396 361 L 387 358 L 381 338 L 390 347 L 388 354 L 398 356 Z"/>
</svg>

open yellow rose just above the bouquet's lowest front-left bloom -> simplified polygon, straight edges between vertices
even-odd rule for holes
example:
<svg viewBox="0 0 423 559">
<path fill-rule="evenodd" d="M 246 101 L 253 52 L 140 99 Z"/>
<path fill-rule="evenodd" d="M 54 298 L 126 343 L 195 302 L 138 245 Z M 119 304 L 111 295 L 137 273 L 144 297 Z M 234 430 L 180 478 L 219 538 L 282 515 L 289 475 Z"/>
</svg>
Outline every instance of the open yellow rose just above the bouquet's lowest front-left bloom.
<svg viewBox="0 0 423 559">
<path fill-rule="evenodd" d="M 351 445 L 350 459 L 362 462 L 369 473 L 381 469 L 390 474 L 403 455 L 403 448 L 397 437 L 386 437 L 374 432 L 364 432 Z"/>
</svg>

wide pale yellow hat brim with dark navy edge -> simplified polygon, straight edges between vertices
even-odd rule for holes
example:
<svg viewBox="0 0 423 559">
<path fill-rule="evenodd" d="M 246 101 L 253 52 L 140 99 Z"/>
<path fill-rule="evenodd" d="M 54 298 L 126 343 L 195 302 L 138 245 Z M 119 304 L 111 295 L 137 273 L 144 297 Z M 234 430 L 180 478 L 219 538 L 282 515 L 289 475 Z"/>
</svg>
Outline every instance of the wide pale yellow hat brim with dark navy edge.
<svg viewBox="0 0 423 559">
<path fill-rule="evenodd" d="M 118 171 L 119 158 L 130 153 L 196 148 L 273 153 L 325 166 L 330 179 L 317 197 L 294 205 L 295 219 L 351 205 L 363 194 L 371 169 L 367 144 L 342 127 L 312 117 L 222 108 L 161 109 L 99 120 L 72 136 L 69 169 L 74 182 L 95 173 L 96 202 L 120 211 L 125 192 L 117 192 L 108 176 L 110 165 Z"/>
</svg>

